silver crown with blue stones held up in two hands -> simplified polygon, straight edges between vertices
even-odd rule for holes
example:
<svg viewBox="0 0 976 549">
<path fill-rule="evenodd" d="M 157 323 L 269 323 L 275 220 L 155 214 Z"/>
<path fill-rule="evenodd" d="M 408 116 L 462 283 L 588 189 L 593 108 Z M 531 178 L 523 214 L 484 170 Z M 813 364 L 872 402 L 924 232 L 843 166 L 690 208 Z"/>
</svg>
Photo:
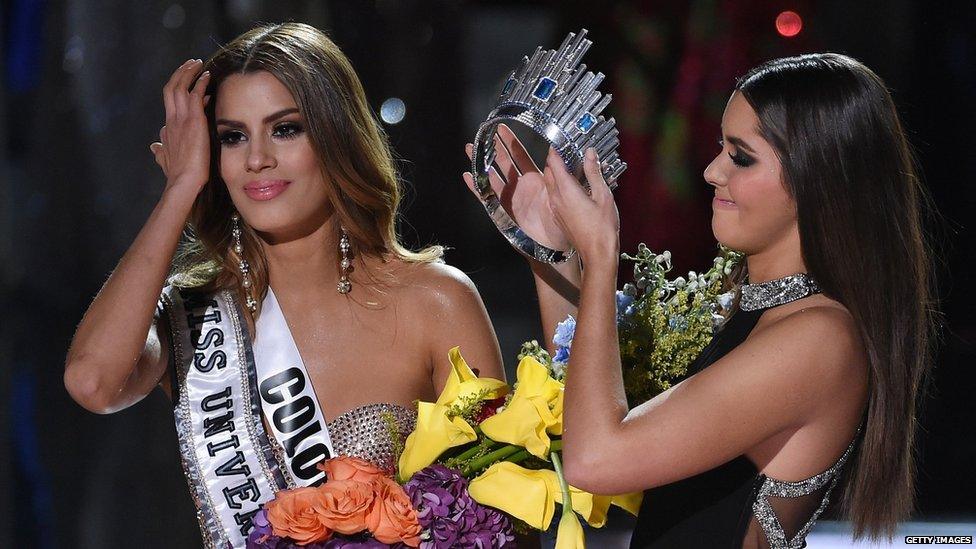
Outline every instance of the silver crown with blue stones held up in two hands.
<svg viewBox="0 0 976 549">
<path fill-rule="evenodd" d="M 593 147 L 600 158 L 600 170 L 611 189 L 627 169 L 620 160 L 620 140 L 616 121 L 600 113 L 610 104 L 611 95 L 603 95 L 597 86 L 603 73 L 593 74 L 580 65 L 580 59 L 593 42 L 586 29 L 569 33 L 557 50 L 537 47 L 532 57 L 523 57 L 512 71 L 495 107 L 478 128 L 475 136 L 472 174 L 488 215 L 502 235 L 520 252 L 539 261 L 558 263 L 572 257 L 573 250 L 553 250 L 539 244 L 518 227 L 499 202 L 488 180 L 488 169 L 495 158 L 493 136 L 499 124 L 519 122 L 542 138 L 559 153 L 572 173 L 580 173 L 583 154 Z M 582 178 L 581 183 L 589 188 Z"/>
</svg>

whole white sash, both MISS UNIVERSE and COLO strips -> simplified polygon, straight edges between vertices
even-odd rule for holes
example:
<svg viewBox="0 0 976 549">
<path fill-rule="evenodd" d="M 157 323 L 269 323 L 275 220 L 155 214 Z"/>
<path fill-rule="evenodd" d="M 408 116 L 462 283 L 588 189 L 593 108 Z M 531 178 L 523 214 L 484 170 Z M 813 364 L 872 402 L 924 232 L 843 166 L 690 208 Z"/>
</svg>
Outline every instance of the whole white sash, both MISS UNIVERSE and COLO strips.
<svg viewBox="0 0 976 549">
<path fill-rule="evenodd" d="M 253 349 L 230 292 L 170 286 L 161 305 L 172 334 L 180 453 L 204 544 L 244 547 L 261 504 L 324 478 L 315 464 L 332 456 L 325 420 L 270 288 Z"/>
</svg>

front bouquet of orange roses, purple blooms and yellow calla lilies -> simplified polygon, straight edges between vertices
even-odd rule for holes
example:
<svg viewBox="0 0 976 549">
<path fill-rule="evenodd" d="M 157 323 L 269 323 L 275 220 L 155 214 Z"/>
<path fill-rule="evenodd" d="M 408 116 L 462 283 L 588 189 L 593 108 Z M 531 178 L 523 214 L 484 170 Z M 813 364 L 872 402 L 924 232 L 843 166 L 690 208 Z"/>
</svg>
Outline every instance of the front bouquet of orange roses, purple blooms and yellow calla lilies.
<svg viewBox="0 0 976 549">
<path fill-rule="evenodd" d="M 477 377 L 456 347 L 449 359 L 437 401 L 417 403 L 396 480 L 357 458 L 327 460 L 325 483 L 265 504 L 248 547 L 509 547 L 516 531 L 547 530 L 558 503 L 557 547 L 582 548 L 577 513 L 594 527 L 611 504 L 637 513 L 641 493 L 595 496 L 566 484 L 563 384 L 546 366 L 523 357 L 510 387 Z"/>
</svg>

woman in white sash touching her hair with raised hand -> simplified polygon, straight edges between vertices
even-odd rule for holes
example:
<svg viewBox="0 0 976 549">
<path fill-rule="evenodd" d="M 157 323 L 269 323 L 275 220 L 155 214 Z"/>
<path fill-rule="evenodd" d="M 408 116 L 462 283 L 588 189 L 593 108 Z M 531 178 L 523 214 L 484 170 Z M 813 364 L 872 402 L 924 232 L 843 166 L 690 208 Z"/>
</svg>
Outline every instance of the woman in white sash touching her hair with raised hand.
<svg viewBox="0 0 976 549">
<path fill-rule="evenodd" d="M 499 379 L 501 356 L 471 281 L 440 247 L 400 244 L 386 136 L 323 33 L 253 29 L 184 63 L 163 100 L 166 187 L 78 326 L 65 385 L 96 413 L 161 386 L 205 544 L 243 546 L 260 505 L 321 482 L 323 459 L 392 467 L 450 347 Z"/>
</svg>

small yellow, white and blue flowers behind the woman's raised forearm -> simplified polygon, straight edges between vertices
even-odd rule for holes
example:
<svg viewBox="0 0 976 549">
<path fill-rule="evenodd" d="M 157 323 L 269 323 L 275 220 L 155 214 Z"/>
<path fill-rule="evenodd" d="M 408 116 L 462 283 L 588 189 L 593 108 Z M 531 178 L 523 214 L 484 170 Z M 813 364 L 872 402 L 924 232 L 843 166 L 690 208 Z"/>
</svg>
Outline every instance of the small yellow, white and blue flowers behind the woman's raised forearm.
<svg viewBox="0 0 976 549">
<path fill-rule="evenodd" d="M 617 291 L 617 333 L 627 402 L 634 407 L 658 393 L 688 371 L 721 327 L 732 308 L 733 292 L 722 293 L 724 277 L 742 260 L 742 254 L 725 247 L 704 273 L 690 271 L 688 278 L 669 280 L 671 252 L 652 252 L 644 244 L 634 256 L 634 282 Z M 556 354 L 549 354 L 535 341 L 522 346 L 547 364 L 557 379 L 569 363 L 576 319 L 559 323 L 553 336 Z"/>
</svg>

